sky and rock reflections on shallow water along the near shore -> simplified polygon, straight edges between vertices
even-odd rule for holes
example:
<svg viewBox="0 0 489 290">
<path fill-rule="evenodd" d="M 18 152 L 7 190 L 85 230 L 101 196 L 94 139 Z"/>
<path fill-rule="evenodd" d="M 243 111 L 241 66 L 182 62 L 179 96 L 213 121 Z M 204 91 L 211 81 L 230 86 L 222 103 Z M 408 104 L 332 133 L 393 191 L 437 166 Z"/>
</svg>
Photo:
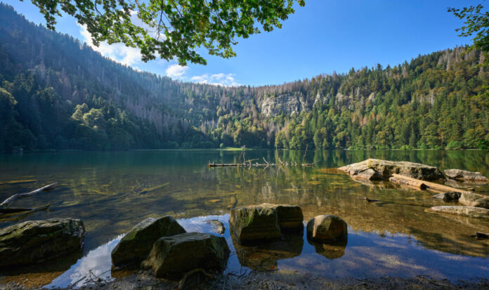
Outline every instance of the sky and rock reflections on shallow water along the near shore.
<svg viewBox="0 0 489 290">
<path fill-rule="evenodd" d="M 230 235 L 229 215 L 179 219 L 187 232 L 213 233 L 205 221 L 220 220 L 226 226 L 223 236 L 230 247 L 226 272 L 247 270 L 299 270 L 329 278 L 397 275 L 430 275 L 439 279 L 485 277 L 489 264 L 485 258 L 460 256 L 441 251 L 426 251 L 406 235 L 375 235 L 350 232 L 348 241 L 321 244 L 308 241 L 306 232 L 285 235 L 283 239 L 257 246 L 240 246 Z M 351 228 L 348 228 L 351 231 Z M 214 233 L 214 235 L 216 235 Z M 89 251 L 47 287 L 81 286 L 89 272 L 111 277 L 110 252 L 122 235 Z"/>
</svg>

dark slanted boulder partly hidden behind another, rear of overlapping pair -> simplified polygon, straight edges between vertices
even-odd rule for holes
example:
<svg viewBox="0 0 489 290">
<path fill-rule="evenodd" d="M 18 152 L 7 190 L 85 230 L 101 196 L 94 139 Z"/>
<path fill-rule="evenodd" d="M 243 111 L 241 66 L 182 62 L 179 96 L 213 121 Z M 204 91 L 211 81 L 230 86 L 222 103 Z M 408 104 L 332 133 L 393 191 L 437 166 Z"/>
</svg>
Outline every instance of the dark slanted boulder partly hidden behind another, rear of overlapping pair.
<svg viewBox="0 0 489 290">
<path fill-rule="evenodd" d="M 146 218 L 122 237 L 119 244 L 112 250 L 112 264 L 115 266 L 139 265 L 148 256 L 157 239 L 183 232 L 185 230 L 171 216 Z"/>
</svg>

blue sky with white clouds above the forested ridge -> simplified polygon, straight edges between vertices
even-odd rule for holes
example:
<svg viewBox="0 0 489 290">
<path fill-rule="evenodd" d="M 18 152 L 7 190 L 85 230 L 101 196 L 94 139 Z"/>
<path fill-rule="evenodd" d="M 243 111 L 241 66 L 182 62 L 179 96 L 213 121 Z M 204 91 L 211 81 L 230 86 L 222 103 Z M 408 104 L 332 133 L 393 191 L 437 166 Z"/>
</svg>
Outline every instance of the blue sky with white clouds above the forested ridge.
<svg viewBox="0 0 489 290">
<path fill-rule="evenodd" d="M 485 2 L 485 1 L 484 1 Z M 484 2 L 482 2 L 484 4 Z M 7 0 L 16 11 L 35 23 L 45 23 L 30 0 Z M 481 1 L 451 0 L 306 0 L 296 7 L 282 29 L 241 39 L 237 57 L 210 55 L 207 65 L 179 67 L 176 61 L 142 62 L 138 51 L 122 44 L 102 44 L 108 58 L 138 70 L 184 81 L 224 85 L 282 84 L 318 74 L 348 72 L 352 67 L 380 63 L 398 65 L 419 54 L 471 44 L 457 36 L 462 21 L 447 7 L 476 5 Z M 88 41 L 89 34 L 69 16 L 58 18 L 57 31 Z"/>
</svg>

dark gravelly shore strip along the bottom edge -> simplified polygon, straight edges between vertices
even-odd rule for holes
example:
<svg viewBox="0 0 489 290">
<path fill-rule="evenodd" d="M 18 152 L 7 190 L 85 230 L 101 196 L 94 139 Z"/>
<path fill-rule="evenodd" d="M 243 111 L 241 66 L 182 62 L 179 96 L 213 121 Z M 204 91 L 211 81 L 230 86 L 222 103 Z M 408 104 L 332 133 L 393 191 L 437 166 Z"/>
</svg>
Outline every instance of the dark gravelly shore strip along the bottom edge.
<svg viewBox="0 0 489 290">
<path fill-rule="evenodd" d="M 202 279 L 204 278 L 204 279 Z M 178 282 L 157 279 L 151 272 L 140 271 L 125 277 L 113 279 L 110 282 L 94 282 L 81 286 L 81 290 L 116 290 L 116 289 L 146 289 L 174 290 Z M 183 289 L 488 289 L 489 279 L 453 280 L 436 279 L 428 276 L 416 277 L 347 277 L 327 279 L 299 273 L 296 271 L 277 270 L 273 272 L 252 271 L 239 277 L 230 273 L 216 276 L 213 279 L 192 277 Z M 28 283 L 1 282 L 0 290 L 34 290 L 37 287 Z M 57 288 L 71 290 L 72 287 Z"/>
</svg>

